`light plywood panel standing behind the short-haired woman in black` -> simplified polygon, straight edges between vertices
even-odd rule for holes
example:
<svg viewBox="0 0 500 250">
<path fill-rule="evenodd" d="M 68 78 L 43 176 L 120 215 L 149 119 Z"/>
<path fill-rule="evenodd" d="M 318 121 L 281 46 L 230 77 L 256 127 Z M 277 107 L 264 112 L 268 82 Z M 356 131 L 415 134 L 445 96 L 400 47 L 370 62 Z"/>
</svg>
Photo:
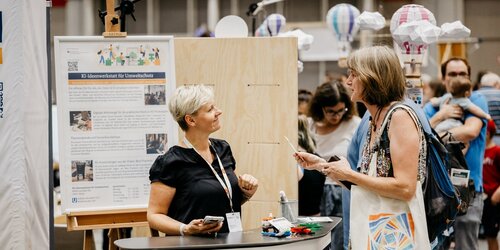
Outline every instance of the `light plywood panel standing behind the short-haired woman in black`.
<svg viewBox="0 0 500 250">
<path fill-rule="evenodd" d="M 297 199 L 296 164 L 283 139 L 297 141 L 296 38 L 176 38 L 174 46 L 177 86 L 214 87 L 223 115 L 213 137 L 231 144 L 239 174 L 259 179 L 252 199 L 277 206 L 280 190 Z M 244 229 L 267 216 L 266 206 L 245 204 Z"/>
</svg>

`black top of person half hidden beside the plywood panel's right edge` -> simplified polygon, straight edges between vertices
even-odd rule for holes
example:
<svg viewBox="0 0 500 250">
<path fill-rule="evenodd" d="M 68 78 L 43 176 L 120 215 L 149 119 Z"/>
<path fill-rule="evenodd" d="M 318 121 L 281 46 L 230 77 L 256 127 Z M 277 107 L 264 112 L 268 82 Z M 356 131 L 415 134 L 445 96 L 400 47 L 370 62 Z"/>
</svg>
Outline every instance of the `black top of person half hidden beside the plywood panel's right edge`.
<svg viewBox="0 0 500 250">
<path fill-rule="evenodd" d="M 322 173 L 304 169 L 304 176 L 299 181 L 299 215 L 310 216 L 319 213 L 324 184 L 325 176 Z"/>
</svg>

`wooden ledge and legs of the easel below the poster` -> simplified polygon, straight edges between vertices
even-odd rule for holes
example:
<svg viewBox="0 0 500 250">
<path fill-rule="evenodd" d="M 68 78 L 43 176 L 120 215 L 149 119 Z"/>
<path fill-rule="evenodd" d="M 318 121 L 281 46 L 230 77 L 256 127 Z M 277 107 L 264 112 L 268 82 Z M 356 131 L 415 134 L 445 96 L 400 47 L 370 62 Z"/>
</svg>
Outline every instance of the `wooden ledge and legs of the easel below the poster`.
<svg viewBox="0 0 500 250">
<path fill-rule="evenodd" d="M 94 244 L 92 229 L 109 228 L 109 249 L 117 249 L 113 242 L 121 238 L 120 228 L 148 226 L 145 208 L 69 212 L 66 223 L 68 231 L 84 231 L 84 250 Z"/>
</svg>

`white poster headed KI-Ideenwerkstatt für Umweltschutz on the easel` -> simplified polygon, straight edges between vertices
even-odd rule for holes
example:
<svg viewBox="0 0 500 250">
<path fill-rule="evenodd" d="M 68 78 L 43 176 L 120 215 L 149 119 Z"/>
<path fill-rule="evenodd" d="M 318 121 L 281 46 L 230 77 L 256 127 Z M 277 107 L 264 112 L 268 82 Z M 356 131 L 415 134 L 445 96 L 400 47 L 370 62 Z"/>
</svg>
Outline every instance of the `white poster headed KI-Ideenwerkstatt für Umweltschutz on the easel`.
<svg viewBox="0 0 500 250">
<path fill-rule="evenodd" d="M 55 37 L 63 212 L 147 207 L 149 168 L 178 141 L 173 42 Z"/>
</svg>

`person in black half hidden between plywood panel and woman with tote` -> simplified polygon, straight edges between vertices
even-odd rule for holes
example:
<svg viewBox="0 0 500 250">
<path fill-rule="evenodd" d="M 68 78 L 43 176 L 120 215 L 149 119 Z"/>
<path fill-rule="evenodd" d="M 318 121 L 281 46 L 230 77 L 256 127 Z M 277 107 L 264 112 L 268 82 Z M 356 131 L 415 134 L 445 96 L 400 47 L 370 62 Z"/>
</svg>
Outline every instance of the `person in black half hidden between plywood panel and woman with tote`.
<svg viewBox="0 0 500 250">
<path fill-rule="evenodd" d="M 307 117 L 299 115 L 299 151 L 316 153 L 316 142 L 307 128 Z M 325 175 L 314 170 L 303 169 L 297 165 L 299 179 L 299 215 L 319 216 L 319 204 L 323 196 Z"/>
</svg>

